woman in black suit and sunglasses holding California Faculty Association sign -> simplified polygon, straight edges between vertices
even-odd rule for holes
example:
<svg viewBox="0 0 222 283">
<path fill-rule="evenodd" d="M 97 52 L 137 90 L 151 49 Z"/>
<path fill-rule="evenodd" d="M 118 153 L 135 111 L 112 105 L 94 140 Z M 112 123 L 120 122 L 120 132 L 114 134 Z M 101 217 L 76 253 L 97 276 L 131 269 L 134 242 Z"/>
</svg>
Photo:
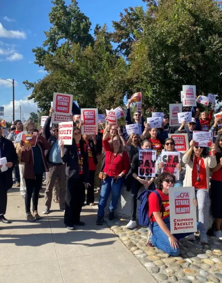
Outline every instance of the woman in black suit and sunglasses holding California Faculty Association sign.
<svg viewBox="0 0 222 283">
<path fill-rule="evenodd" d="M 64 224 L 67 229 L 75 230 L 75 225 L 85 225 L 80 221 L 80 213 L 85 201 L 85 190 L 90 186 L 88 150 L 81 130 L 76 127 L 73 128 L 72 145 L 64 146 L 64 141 L 61 139 L 60 147 L 67 176 Z"/>
</svg>

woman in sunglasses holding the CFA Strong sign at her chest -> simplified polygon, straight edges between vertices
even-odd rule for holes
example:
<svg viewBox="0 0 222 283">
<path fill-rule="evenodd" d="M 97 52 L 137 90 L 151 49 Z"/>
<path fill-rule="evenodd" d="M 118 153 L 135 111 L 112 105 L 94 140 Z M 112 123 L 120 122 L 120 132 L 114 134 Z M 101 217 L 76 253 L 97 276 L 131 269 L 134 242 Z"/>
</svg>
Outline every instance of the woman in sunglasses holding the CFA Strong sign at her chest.
<svg viewBox="0 0 222 283">
<path fill-rule="evenodd" d="M 175 149 L 175 141 L 173 138 L 167 138 L 164 141 L 164 150 L 156 159 L 156 174 L 159 174 L 164 166 L 164 163 L 161 162 L 161 155 L 164 154 L 164 152 L 172 152 L 172 153 L 177 152 L 177 150 Z M 178 187 L 183 186 L 183 180 L 185 175 L 185 164 L 183 163 L 182 158 L 183 158 L 183 154 L 180 153 L 179 163 L 176 165 L 176 167 L 180 171 L 180 177 L 179 180 L 176 180 L 174 184 L 174 186 L 178 186 Z"/>
</svg>

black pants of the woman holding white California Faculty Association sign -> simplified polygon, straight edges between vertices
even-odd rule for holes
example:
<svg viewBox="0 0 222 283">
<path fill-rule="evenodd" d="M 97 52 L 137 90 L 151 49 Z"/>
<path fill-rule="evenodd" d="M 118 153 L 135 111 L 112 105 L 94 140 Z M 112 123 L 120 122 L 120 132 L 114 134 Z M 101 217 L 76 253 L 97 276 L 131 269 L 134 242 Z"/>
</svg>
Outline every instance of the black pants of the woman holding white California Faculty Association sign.
<svg viewBox="0 0 222 283">
<path fill-rule="evenodd" d="M 78 179 L 67 177 L 66 208 L 64 224 L 73 226 L 80 221 L 80 212 L 85 199 L 84 176 L 79 175 Z"/>
</svg>

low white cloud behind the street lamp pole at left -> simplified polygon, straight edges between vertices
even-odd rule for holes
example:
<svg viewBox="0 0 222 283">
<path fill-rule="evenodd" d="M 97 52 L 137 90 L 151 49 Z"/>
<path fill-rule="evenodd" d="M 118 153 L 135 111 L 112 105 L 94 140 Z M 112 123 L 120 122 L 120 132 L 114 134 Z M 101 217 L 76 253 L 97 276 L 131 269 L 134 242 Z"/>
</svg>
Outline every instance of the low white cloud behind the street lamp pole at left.
<svg viewBox="0 0 222 283">
<path fill-rule="evenodd" d="M 6 121 L 11 122 L 13 119 L 12 101 L 9 104 L 3 106 L 5 107 L 5 116 L 3 116 L 3 118 L 6 118 Z M 22 110 L 21 112 L 24 116 L 24 120 L 27 120 L 29 118 L 30 112 L 37 113 L 37 103 L 35 103 L 33 100 L 15 100 L 15 120 L 20 119 L 20 106 Z"/>
</svg>

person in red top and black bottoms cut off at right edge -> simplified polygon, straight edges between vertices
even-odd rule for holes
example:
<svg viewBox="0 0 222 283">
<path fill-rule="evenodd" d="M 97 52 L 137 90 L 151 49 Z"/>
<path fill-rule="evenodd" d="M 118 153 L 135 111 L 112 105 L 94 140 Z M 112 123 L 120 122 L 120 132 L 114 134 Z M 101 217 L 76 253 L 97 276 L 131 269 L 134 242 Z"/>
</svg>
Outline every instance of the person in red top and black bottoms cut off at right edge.
<svg viewBox="0 0 222 283">
<path fill-rule="evenodd" d="M 210 169 L 213 173 L 211 176 L 211 207 L 212 215 L 215 218 L 214 236 L 222 240 L 222 134 L 216 137 L 216 162 L 215 168 Z"/>
</svg>

